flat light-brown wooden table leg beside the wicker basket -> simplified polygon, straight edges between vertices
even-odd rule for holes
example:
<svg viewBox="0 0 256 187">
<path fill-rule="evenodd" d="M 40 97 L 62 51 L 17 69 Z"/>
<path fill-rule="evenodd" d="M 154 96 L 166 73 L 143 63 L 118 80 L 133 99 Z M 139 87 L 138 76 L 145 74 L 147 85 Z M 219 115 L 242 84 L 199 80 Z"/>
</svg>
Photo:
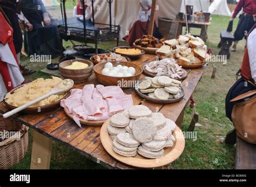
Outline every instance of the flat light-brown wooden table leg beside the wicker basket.
<svg viewBox="0 0 256 187">
<path fill-rule="evenodd" d="M 30 169 L 50 169 L 52 140 L 33 131 Z"/>
</svg>

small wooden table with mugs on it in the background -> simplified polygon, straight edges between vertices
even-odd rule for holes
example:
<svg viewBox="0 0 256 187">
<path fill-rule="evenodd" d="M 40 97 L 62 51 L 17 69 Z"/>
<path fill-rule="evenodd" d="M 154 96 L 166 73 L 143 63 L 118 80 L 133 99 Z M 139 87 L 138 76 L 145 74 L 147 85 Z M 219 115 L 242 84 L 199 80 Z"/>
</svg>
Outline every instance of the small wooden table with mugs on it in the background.
<svg viewBox="0 0 256 187">
<path fill-rule="evenodd" d="M 178 24 L 178 29 L 176 32 L 176 37 L 179 36 L 180 34 L 182 34 L 182 28 L 184 26 L 186 26 L 186 22 L 184 20 L 172 20 L 172 23 L 177 23 Z M 188 32 L 190 27 L 194 27 L 194 28 L 199 28 L 201 29 L 201 33 L 200 33 L 200 38 L 203 39 L 204 41 L 206 41 L 207 39 L 207 29 L 208 26 L 211 25 L 211 22 L 188 22 Z"/>
</svg>

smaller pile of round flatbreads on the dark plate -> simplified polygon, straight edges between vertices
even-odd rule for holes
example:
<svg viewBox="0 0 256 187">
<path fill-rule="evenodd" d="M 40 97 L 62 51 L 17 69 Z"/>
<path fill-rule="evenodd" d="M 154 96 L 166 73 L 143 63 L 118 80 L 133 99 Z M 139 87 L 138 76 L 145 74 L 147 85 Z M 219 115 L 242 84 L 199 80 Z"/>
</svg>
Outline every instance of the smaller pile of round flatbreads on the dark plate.
<svg viewBox="0 0 256 187">
<path fill-rule="evenodd" d="M 167 100 L 177 99 L 181 93 L 181 82 L 167 76 L 146 77 L 140 82 L 140 93 L 148 94 L 150 98 Z"/>
</svg>

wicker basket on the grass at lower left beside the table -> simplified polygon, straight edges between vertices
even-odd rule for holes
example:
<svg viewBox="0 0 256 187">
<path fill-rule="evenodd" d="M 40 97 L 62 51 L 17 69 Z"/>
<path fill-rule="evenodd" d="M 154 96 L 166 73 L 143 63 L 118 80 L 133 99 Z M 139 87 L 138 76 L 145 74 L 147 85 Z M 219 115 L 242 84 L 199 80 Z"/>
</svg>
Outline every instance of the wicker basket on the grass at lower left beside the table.
<svg viewBox="0 0 256 187">
<path fill-rule="evenodd" d="M 20 140 L 10 137 L 0 142 L 0 169 L 8 169 L 17 164 L 24 158 L 28 150 L 28 127 L 23 125 L 18 131 L 21 132 Z M 17 135 L 18 131 L 13 136 Z"/>
</svg>

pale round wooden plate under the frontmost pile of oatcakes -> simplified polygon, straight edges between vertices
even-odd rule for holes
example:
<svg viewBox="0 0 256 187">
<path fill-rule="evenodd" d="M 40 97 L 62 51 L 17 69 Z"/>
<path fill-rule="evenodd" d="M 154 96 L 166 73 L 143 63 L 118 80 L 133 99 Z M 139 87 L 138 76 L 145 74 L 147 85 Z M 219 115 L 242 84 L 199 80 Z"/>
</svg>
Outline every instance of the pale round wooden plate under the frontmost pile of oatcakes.
<svg viewBox="0 0 256 187">
<path fill-rule="evenodd" d="M 113 151 L 113 141 L 107 132 L 107 124 L 109 124 L 109 120 L 107 120 L 102 128 L 100 129 L 100 141 L 104 149 L 109 153 L 112 157 L 116 158 L 116 160 L 131 165 L 133 167 L 138 168 L 157 168 L 162 167 L 164 165 L 170 164 L 175 161 L 182 153 L 185 148 L 185 138 L 181 129 L 177 126 L 174 130 L 173 136 L 176 137 L 176 142 L 173 147 L 164 148 L 164 156 L 157 159 L 145 158 L 137 154 L 135 157 L 125 157 L 118 155 Z"/>
</svg>

